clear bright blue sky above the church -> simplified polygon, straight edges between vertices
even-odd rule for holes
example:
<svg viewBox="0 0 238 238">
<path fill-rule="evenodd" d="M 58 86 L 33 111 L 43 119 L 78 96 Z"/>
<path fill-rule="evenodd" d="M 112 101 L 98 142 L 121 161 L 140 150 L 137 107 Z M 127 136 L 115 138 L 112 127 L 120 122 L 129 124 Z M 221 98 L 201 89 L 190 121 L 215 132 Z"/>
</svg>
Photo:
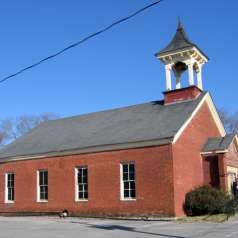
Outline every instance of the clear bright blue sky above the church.
<svg viewBox="0 0 238 238">
<path fill-rule="evenodd" d="M 149 4 L 149 0 L 8 0 L 0 10 L 0 78 Z M 162 98 L 164 68 L 154 53 L 181 16 L 210 57 L 204 88 L 218 107 L 238 111 L 238 1 L 164 0 L 159 6 L 0 85 L 0 118 L 77 115 Z"/>
</svg>

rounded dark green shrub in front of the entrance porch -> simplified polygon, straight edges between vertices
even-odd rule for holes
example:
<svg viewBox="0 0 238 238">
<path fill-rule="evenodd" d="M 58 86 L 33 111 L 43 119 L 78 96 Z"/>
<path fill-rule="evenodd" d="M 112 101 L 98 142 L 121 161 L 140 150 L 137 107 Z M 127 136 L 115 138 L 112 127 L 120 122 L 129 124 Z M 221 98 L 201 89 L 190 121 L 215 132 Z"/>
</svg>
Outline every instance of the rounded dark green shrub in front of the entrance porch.
<svg viewBox="0 0 238 238">
<path fill-rule="evenodd" d="M 184 209 L 188 216 L 223 213 L 229 196 L 210 186 L 201 186 L 186 194 Z"/>
</svg>

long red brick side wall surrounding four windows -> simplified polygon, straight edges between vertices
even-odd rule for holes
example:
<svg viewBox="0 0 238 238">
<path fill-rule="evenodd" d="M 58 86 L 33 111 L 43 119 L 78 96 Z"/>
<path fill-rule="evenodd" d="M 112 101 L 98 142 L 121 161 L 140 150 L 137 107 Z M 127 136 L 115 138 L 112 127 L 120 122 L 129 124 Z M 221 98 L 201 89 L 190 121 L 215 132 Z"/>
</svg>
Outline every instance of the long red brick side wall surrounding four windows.
<svg viewBox="0 0 238 238">
<path fill-rule="evenodd" d="M 136 201 L 120 201 L 120 163 L 136 165 Z M 75 202 L 77 166 L 88 166 L 89 200 Z M 36 202 L 36 173 L 48 169 L 49 199 Z M 4 203 L 4 174 L 15 173 L 15 203 Z M 168 145 L 0 165 L 0 211 L 69 210 L 87 215 L 174 215 L 171 147 Z"/>
</svg>

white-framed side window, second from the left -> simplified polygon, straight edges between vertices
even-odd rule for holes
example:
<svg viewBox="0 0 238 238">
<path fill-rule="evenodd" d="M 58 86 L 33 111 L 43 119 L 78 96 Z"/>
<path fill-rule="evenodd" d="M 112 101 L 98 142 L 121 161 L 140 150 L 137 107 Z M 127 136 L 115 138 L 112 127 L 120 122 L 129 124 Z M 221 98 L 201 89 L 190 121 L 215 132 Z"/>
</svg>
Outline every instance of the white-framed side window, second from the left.
<svg viewBox="0 0 238 238">
<path fill-rule="evenodd" d="M 37 200 L 38 202 L 48 201 L 48 171 L 39 170 L 37 178 Z"/>
</svg>

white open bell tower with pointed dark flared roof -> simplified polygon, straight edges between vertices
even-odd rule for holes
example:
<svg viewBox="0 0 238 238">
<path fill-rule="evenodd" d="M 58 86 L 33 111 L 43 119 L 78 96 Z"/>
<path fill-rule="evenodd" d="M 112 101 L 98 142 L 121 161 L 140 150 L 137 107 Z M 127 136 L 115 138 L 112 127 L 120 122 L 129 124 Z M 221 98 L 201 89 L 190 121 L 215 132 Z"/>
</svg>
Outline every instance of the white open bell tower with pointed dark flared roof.
<svg viewBox="0 0 238 238">
<path fill-rule="evenodd" d="M 188 86 L 197 86 L 203 90 L 202 66 L 209 59 L 188 39 L 180 21 L 170 44 L 155 56 L 165 65 L 166 91 L 173 90 L 172 72 L 176 79 L 175 89 L 181 88 L 181 75 L 185 71 L 188 71 Z"/>
</svg>

